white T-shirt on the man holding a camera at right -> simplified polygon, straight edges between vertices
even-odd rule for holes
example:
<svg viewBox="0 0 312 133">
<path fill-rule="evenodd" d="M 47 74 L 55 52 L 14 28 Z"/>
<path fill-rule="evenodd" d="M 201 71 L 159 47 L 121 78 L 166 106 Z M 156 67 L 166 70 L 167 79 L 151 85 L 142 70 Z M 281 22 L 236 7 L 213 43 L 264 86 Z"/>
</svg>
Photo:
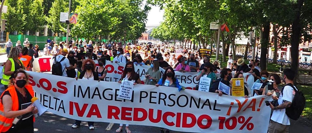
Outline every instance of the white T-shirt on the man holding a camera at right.
<svg viewBox="0 0 312 133">
<path fill-rule="evenodd" d="M 298 89 L 296 88 L 296 90 Z M 278 104 L 281 105 L 282 103 L 284 103 L 283 100 L 292 102 L 292 100 L 294 99 L 294 96 L 295 96 L 295 90 L 291 86 L 285 86 L 283 89 L 283 93 L 280 93 Z M 286 115 L 286 109 L 274 110 L 271 120 L 274 122 L 280 123 L 282 125 L 290 125 L 290 119 Z"/>
</svg>

